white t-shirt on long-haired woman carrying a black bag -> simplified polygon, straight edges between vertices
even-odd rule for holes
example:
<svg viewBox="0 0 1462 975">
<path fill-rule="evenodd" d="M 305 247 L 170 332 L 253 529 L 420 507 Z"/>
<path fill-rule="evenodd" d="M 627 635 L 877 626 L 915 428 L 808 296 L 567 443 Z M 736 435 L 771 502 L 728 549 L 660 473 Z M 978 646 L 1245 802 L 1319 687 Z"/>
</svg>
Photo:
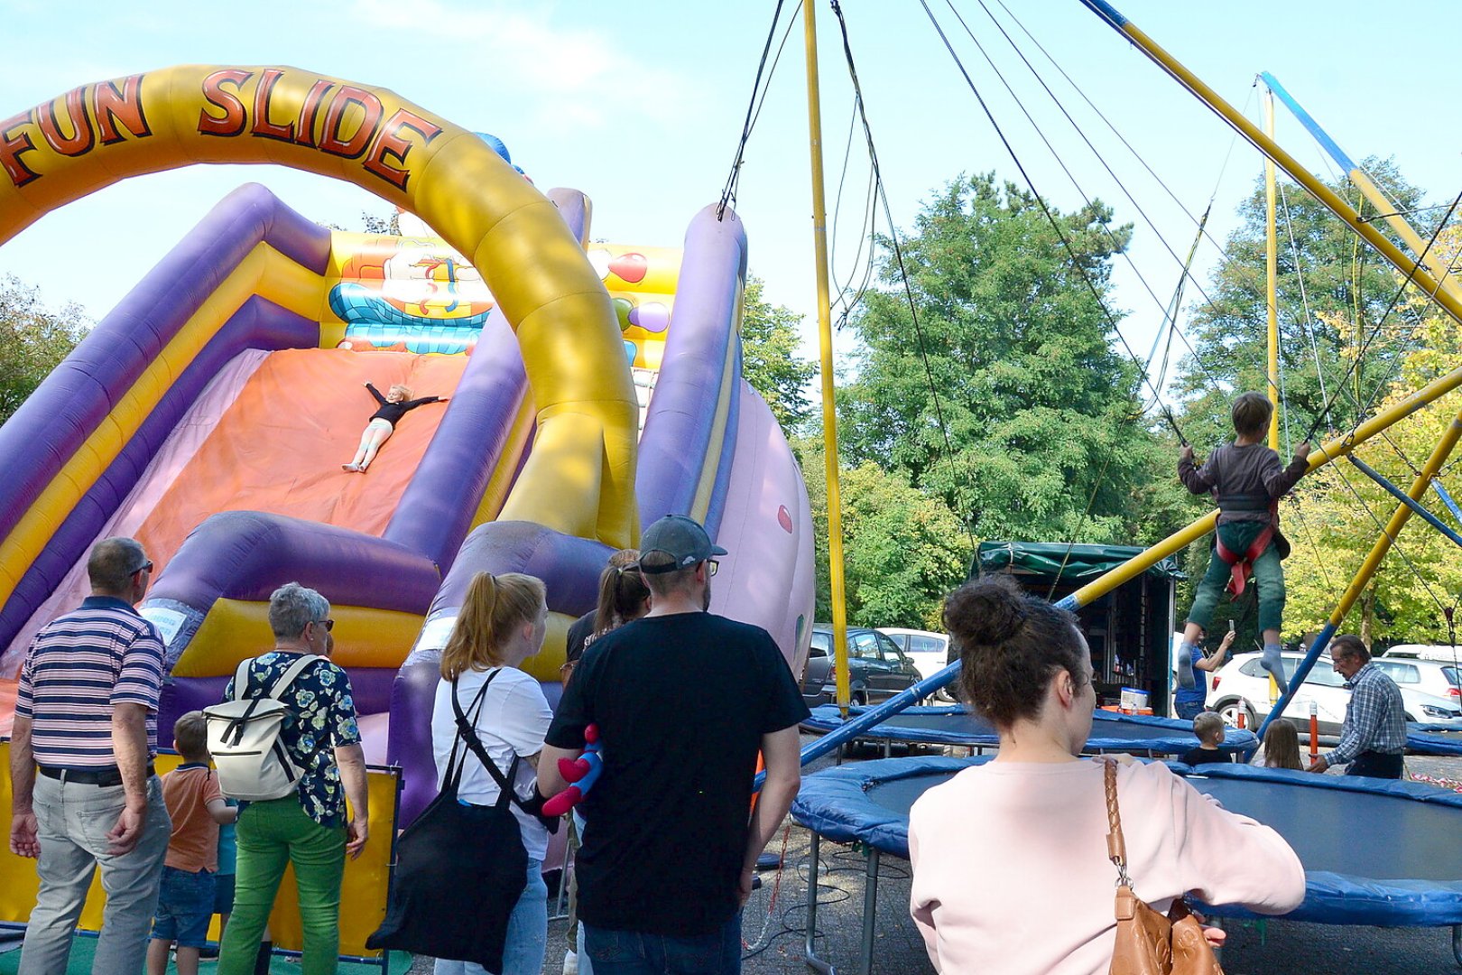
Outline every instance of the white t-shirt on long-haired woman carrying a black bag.
<svg viewBox="0 0 1462 975">
<path fill-rule="evenodd" d="M 488 671 L 466 671 L 458 678 L 458 702 L 463 712 L 471 709 L 477 691 L 482 688 L 482 683 L 494 671 L 500 672 L 493 678 L 482 699 L 482 710 L 477 719 L 477 737 L 482 740 L 482 747 L 497 765 L 497 770 L 506 775 L 515 754 L 526 759 L 542 751 L 553 710 L 548 707 L 548 699 L 544 697 L 542 687 L 537 680 L 516 667 L 503 667 Z M 456 715 L 452 709 L 450 693 L 452 684 L 444 680 L 439 681 L 436 705 L 431 707 L 431 750 L 437 760 L 439 789 L 446 778 L 452 743 L 456 741 Z M 465 744 L 459 747 L 459 754 L 465 747 Z M 519 797 L 532 798 L 534 789 L 538 788 L 534 766 L 528 762 L 519 762 L 513 785 Z M 462 770 L 462 782 L 458 786 L 458 798 L 472 805 L 493 805 L 497 803 L 497 782 L 469 751 L 466 767 Z M 523 813 L 516 803 L 510 804 L 509 808 L 518 817 L 528 857 L 542 860 L 548 854 L 548 830 L 537 819 Z"/>
</svg>

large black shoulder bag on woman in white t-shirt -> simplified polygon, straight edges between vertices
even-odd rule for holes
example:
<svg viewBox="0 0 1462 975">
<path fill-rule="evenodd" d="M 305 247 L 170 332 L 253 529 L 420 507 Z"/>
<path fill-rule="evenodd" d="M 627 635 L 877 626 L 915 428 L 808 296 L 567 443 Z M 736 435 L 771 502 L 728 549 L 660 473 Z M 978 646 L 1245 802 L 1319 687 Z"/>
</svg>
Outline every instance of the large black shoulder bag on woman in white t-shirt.
<svg viewBox="0 0 1462 975">
<path fill-rule="evenodd" d="M 462 962 L 477 962 L 490 972 L 503 971 L 507 918 L 528 886 L 528 851 L 509 803 L 519 757 L 504 776 L 474 732 L 482 696 L 500 671 L 488 674 L 468 712 L 458 703 L 452 681 L 452 707 L 458 740 L 452 743 L 442 792 L 396 839 L 386 919 L 366 940 L 368 949 L 390 949 Z M 500 789 L 493 805 L 465 805 L 458 800 L 465 743 Z"/>
</svg>

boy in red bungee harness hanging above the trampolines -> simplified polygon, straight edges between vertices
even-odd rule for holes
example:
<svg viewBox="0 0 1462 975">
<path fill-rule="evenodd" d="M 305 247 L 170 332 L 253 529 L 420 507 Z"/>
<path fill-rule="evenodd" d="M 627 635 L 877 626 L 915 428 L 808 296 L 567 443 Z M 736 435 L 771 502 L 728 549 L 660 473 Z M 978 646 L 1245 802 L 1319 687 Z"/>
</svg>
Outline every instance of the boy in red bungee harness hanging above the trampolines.
<svg viewBox="0 0 1462 975">
<path fill-rule="evenodd" d="M 1259 629 L 1265 650 L 1260 665 L 1273 675 L 1281 693 L 1288 690 L 1279 658 L 1279 627 L 1284 618 L 1284 566 L 1289 542 L 1279 532 L 1279 498 L 1310 469 L 1310 443 L 1294 452 L 1289 466 L 1279 465 L 1279 455 L 1265 446 L 1273 403 L 1262 393 L 1244 393 L 1234 401 L 1234 443 L 1218 447 L 1203 466 L 1193 463 L 1193 447 L 1178 455 L 1178 479 L 1193 494 L 1213 494 L 1218 503 L 1218 531 L 1213 534 L 1213 558 L 1193 596 L 1183 645 L 1178 648 L 1178 684 L 1193 687 L 1193 659 L 1197 639 L 1213 618 L 1213 607 L 1225 583 L 1240 595 L 1253 574 L 1259 589 Z"/>
</svg>

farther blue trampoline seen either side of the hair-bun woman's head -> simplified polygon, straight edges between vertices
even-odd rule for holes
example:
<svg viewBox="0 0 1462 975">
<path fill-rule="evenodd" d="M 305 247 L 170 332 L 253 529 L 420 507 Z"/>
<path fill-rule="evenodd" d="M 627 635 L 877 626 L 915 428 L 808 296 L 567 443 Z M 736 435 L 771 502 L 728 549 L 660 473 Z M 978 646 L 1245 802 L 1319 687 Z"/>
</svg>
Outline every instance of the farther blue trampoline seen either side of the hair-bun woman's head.
<svg viewBox="0 0 1462 975">
<path fill-rule="evenodd" d="M 871 707 L 849 707 L 848 716 L 857 718 Z M 1152 718 L 1148 715 L 1118 715 L 1098 710 L 1094 715 L 1092 734 L 1086 740 L 1086 754 L 1124 751 L 1148 757 L 1183 754 L 1197 747 L 1193 722 L 1174 718 Z M 813 709 L 813 716 L 803 722 L 804 731 L 827 734 L 842 725 L 836 705 Z M 962 705 L 944 707 L 906 707 L 883 724 L 874 725 L 858 735 L 879 738 L 885 743 L 906 741 L 920 744 L 966 746 L 982 751 L 1000 744 L 994 725 L 978 718 Z M 1224 751 L 1254 751 L 1259 740 L 1254 732 L 1243 728 L 1225 728 Z M 1462 754 L 1462 748 L 1459 748 Z"/>
</svg>

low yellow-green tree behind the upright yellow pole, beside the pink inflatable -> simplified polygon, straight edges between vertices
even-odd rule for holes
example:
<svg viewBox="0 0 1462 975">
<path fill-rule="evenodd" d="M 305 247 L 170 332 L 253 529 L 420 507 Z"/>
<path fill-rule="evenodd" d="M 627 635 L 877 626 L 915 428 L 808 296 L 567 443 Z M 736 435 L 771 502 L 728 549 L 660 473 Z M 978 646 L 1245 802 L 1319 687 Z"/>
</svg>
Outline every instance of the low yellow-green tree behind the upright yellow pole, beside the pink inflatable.
<svg viewBox="0 0 1462 975">
<path fill-rule="evenodd" d="M 830 621 L 823 446 L 811 437 L 792 446 L 813 510 L 817 620 Z M 844 468 L 839 491 L 848 623 L 943 630 L 944 596 L 965 580 L 972 554 L 959 519 L 943 500 L 871 462 Z"/>
</svg>

